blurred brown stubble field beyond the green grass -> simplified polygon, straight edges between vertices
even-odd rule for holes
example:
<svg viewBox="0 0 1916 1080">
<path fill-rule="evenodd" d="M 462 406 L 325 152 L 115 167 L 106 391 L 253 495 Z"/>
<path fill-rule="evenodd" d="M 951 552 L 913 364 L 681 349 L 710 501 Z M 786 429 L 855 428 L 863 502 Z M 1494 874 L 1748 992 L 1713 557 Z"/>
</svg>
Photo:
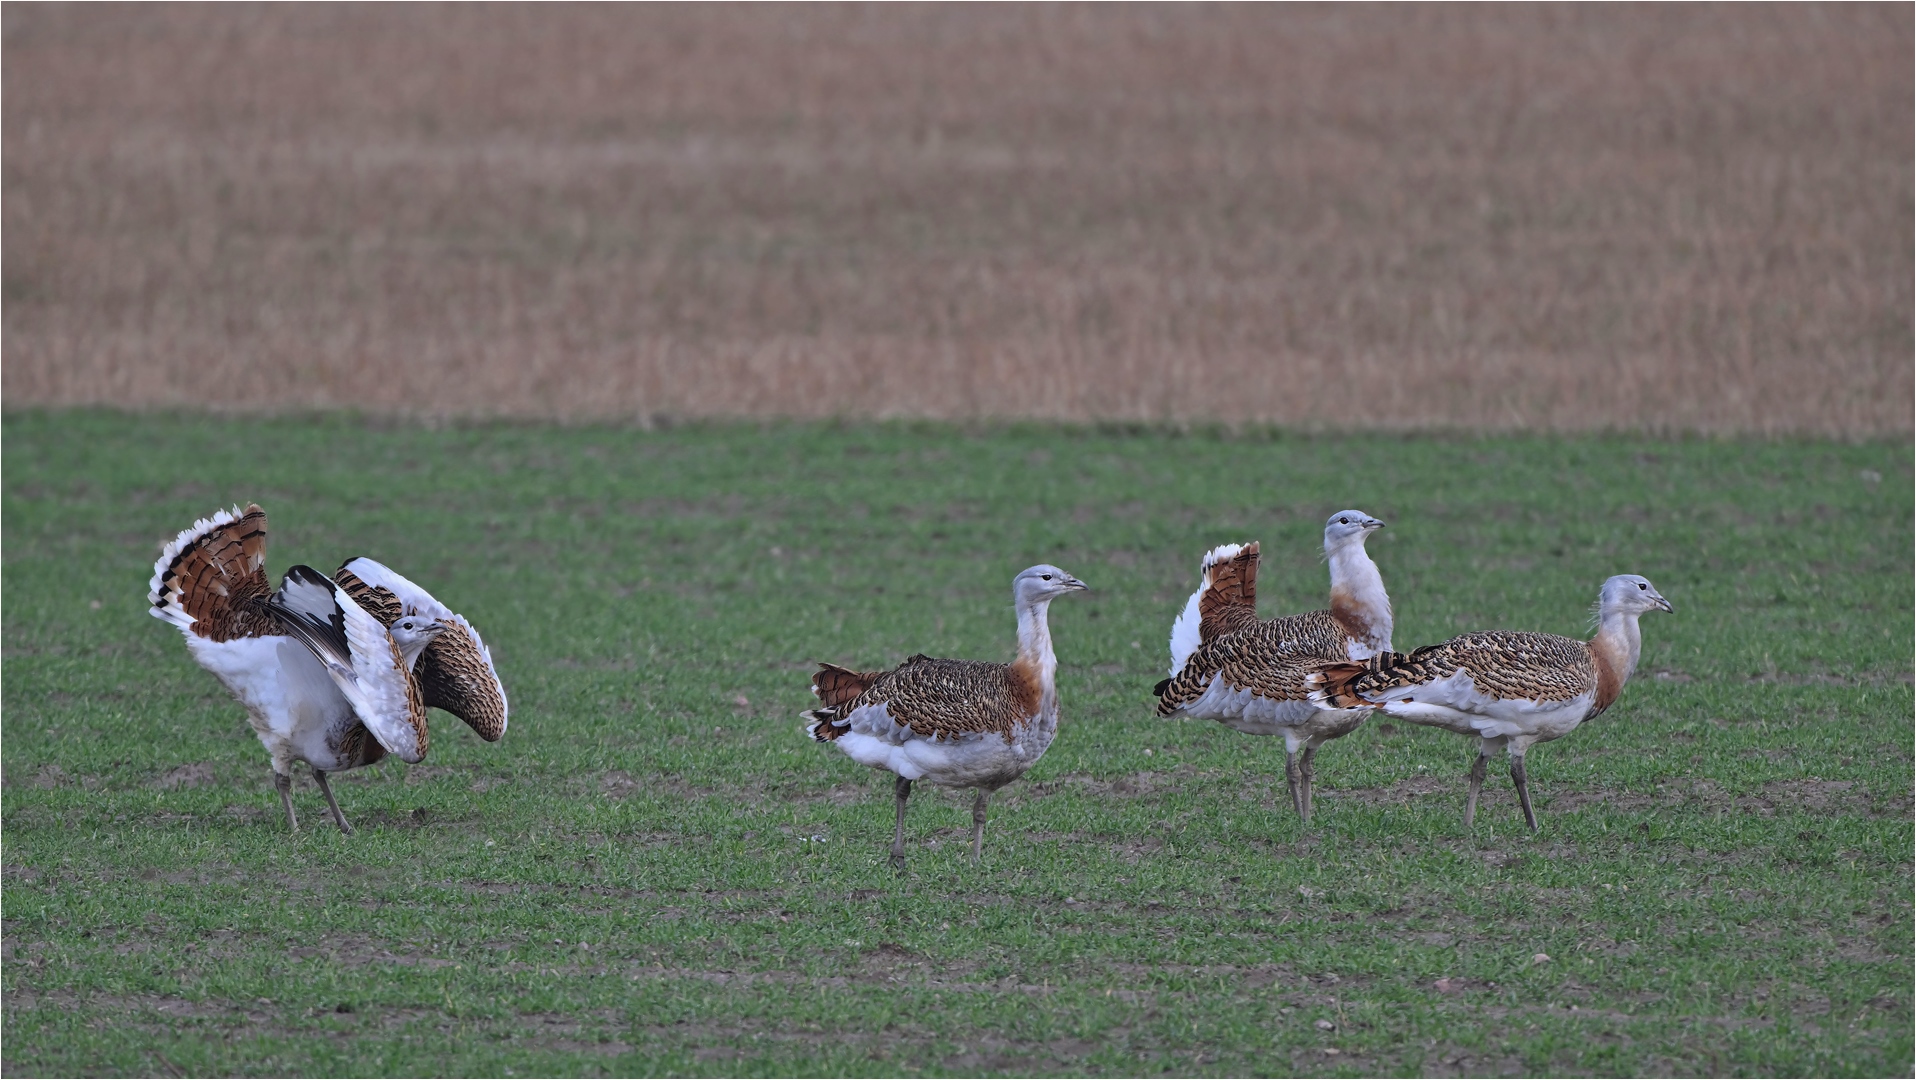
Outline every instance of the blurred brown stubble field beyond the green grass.
<svg viewBox="0 0 1916 1080">
<path fill-rule="evenodd" d="M 0 19 L 13 408 L 1912 427 L 1908 6 Z"/>
</svg>

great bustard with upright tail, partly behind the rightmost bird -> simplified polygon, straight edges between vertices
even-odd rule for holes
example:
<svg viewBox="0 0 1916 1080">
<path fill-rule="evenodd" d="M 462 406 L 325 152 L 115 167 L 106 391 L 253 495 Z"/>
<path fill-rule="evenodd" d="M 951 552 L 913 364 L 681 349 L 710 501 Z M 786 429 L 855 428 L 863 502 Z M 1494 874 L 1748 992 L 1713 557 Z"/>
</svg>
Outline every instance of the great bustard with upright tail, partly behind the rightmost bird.
<svg viewBox="0 0 1916 1080">
<path fill-rule="evenodd" d="M 1364 538 L 1383 529 L 1345 509 L 1324 523 L 1330 607 L 1257 619 L 1257 544 L 1224 544 L 1171 626 L 1171 678 L 1157 684 L 1159 716 L 1217 720 L 1247 735 L 1284 735 L 1291 806 L 1311 820 L 1318 747 L 1357 730 L 1368 709 L 1311 705 L 1305 678 L 1322 661 L 1362 661 L 1391 647 L 1391 597 Z"/>
</svg>

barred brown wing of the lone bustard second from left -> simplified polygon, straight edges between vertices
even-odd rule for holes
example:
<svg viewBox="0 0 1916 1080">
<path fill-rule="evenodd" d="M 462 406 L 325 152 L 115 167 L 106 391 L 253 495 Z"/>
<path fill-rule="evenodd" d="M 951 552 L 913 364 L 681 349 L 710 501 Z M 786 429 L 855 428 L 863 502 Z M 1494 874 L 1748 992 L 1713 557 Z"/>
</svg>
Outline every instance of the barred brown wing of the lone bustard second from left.
<svg viewBox="0 0 1916 1080">
<path fill-rule="evenodd" d="M 879 674 L 843 712 L 883 705 L 885 712 L 918 735 L 952 737 L 1012 730 L 1038 712 L 1037 672 L 1021 663 L 987 664 L 912 657 Z"/>
</svg>

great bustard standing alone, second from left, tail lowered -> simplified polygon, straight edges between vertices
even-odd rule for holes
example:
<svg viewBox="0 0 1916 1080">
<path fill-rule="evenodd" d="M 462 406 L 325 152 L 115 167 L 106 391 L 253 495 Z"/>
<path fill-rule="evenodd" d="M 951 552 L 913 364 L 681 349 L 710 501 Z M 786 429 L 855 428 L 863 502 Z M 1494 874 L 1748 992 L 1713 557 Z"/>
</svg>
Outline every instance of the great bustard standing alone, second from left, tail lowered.
<svg viewBox="0 0 1916 1080">
<path fill-rule="evenodd" d="M 985 850 L 991 793 L 1025 776 L 1058 735 L 1058 655 L 1046 620 L 1060 596 L 1088 588 L 1052 565 L 1012 580 L 1017 659 L 1008 664 L 916 655 L 889 672 L 818 664 L 805 733 L 855 762 L 895 774 L 891 862 L 904 862 L 912 781 L 975 789 L 971 860 Z"/>
</svg>

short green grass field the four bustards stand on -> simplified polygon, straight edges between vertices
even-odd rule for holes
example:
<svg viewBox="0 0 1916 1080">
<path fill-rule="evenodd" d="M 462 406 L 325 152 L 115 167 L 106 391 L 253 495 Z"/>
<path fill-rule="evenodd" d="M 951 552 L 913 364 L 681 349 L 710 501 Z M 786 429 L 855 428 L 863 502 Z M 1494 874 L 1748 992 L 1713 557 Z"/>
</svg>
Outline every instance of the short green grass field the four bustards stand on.
<svg viewBox="0 0 1916 1080">
<path fill-rule="evenodd" d="M 1056 427 L 623 427 L 11 414 L 4 427 L 4 1072 L 1901 1074 L 1912 1069 L 1905 442 L 1297 439 Z M 268 569 L 374 555 L 492 643 L 498 745 L 301 768 L 144 613 L 232 502 Z M 1322 603 L 1324 517 L 1397 645 L 1581 634 L 1648 574 L 1623 699 L 1531 754 L 1320 754 L 1159 722 L 1201 550 Z M 801 735 L 814 661 L 1006 659 L 1052 561 L 1063 730 L 994 800 Z M 1548 954 L 1546 963 L 1533 961 Z M 1443 980 L 1443 982 L 1439 982 Z"/>
</svg>

